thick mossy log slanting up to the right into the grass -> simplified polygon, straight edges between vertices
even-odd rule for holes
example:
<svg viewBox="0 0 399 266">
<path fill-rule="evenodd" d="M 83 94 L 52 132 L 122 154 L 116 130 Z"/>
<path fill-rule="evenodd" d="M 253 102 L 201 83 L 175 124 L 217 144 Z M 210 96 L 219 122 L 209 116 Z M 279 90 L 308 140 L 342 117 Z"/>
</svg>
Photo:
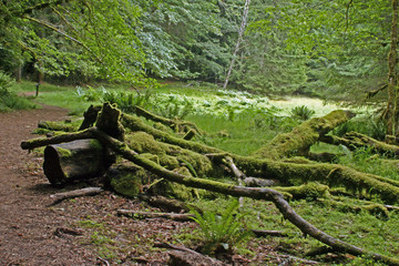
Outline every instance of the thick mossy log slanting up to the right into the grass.
<svg viewBox="0 0 399 266">
<path fill-rule="evenodd" d="M 258 158 L 274 160 L 306 156 L 310 146 L 315 144 L 320 136 L 351 117 L 354 117 L 354 113 L 342 110 L 334 111 L 323 117 L 314 117 L 294 127 L 289 133 L 278 134 L 253 155 Z"/>
</svg>

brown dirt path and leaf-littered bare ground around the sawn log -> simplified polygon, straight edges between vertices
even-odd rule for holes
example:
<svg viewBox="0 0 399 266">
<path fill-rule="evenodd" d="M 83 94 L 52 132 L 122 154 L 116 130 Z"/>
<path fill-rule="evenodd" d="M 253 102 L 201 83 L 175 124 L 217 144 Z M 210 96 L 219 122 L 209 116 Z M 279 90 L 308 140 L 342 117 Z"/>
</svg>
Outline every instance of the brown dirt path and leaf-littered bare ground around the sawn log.
<svg viewBox="0 0 399 266">
<path fill-rule="evenodd" d="M 41 154 L 28 154 L 20 143 L 35 137 L 31 132 L 40 120 L 64 120 L 66 113 L 45 105 L 0 113 L 0 266 L 166 265 L 167 253 L 153 244 L 180 244 L 176 234 L 193 234 L 197 225 L 119 217 L 117 208 L 157 209 L 111 192 L 49 206 L 59 190 L 45 178 Z M 265 242 L 254 243 L 250 258 L 235 255 L 231 263 L 278 265 L 286 259 Z"/>
</svg>

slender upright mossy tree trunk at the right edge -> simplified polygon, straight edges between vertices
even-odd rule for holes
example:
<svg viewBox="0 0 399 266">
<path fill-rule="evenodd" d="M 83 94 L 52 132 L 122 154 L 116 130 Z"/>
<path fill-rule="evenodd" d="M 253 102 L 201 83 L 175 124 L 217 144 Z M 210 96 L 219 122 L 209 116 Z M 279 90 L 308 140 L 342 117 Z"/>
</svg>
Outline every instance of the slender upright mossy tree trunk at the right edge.
<svg viewBox="0 0 399 266">
<path fill-rule="evenodd" d="M 397 127 L 397 101 L 398 101 L 398 76 L 397 76 L 397 43 L 398 43 L 398 0 L 392 0 L 391 47 L 388 54 L 388 103 L 386 111 L 387 135 L 393 136 Z M 387 137 L 393 139 L 393 137 Z"/>
</svg>

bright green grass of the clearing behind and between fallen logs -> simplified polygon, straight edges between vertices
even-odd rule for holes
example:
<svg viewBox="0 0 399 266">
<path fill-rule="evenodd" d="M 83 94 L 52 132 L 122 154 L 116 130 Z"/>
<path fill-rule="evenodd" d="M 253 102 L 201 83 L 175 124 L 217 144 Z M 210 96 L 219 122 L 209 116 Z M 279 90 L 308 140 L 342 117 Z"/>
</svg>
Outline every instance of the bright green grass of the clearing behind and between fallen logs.
<svg viewBox="0 0 399 266">
<path fill-rule="evenodd" d="M 16 92 L 34 91 L 34 83 L 23 82 L 13 88 Z M 161 85 L 161 88 L 147 92 L 149 96 L 142 96 L 140 101 L 136 100 L 135 91 L 121 94 L 121 85 L 106 86 L 106 90 L 88 88 L 79 92 L 75 88 L 43 84 L 37 101 L 66 108 L 71 110 L 71 113 L 80 115 L 90 104 L 99 104 L 106 98 L 111 99 L 110 92 L 116 93 L 113 100 L 122 108 L 129 108 L 129 104 L 140 102 L 158 114 L 193 121 L 206 132 L 204 136 L 197 139 L 198 141 L 242 155 L 253 153 L 276 134 L 289 132 L 301 123 L 300 119 L 291 115 L 294 108 L 305 105 L 309 110 L 314 110 L 316 116 L 319 116 L 338 106 L 335 104 L 324 105 L 323 101 L 314 99 L 272 101 L 243 92 L 221 91 L 214 86 L 186 86 L 178 83 Z M 141 91 L 141 95 L 146 95 L 145 93 Z M 356 111 L 364 114 L 356 119 L 358 121 L 355 120 L 337 129 L 338 133 L 357 130 L 370 135 L 380 134 L 380 126 L 369 119 L 367 110 Z M 370 160 L 372 154 L 367 150 L 349 152 L 345 147 L 318 143 L 311 147 L 311 151 L 342 154 L 337 156 L 337 163 L 362 172 L 399 180 L 396 165 L 388 165 L 379 158 Z M 349 202 L 344 200 L 344 203 Z M 223 213 L 229 201 L 226 198 L 201 200 L 195 204 L 208 212 Z M 337 238 L 376 253 L 399 257 L 398 212 L 391 212 L 389 218 L 386 219 L 366 212 L 340 212 L 336 206 L 321 200 L 295 201 L 291 202 L 291 205 L 304 218 Z M 264 245 L 266 242 L 280 253 L 295 256 L 303 256 L 309 249 L 320 246 L 319 243 L 303 236 L 296 227 L 284 221 L 273 204 L 245 200 L 245 205 L 241 209 L 247 213 L 243 219 L 247 227 L 282 229 L 290 235 L 290 237 L 267 238 L 266 241 L 253 238 L 247 244 L 248 246 Z M 178 243 L 192 243 L 193 239 L 190 236 L 191 234 L 181 234 L 174 237 Z M 103 239 L 98 234 L 93 235 L 92 241 L 99 243 Z M 245 248 L 238 250 L 248 252 Z M 112 255 L 112 252 L 110 254 Z M 377 265 L 368 258 L 348 259 L 347 256 L 327 255 L 321 256 L 320 259 L 328 265 Z"/>
</svg>

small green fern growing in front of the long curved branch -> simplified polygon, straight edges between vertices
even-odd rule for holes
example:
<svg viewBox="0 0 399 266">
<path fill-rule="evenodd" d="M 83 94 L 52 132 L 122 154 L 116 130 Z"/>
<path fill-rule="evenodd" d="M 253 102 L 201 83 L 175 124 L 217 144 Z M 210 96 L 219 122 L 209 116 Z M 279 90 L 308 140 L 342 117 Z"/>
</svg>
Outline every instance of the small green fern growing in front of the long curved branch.
<svg viewBox="0 0 399 266">
<path fill-rule="evenodd" d="M 241 221 L 244 215 L 237 213 L 238 205 L 238 201 L 234 200 L 221 215 L 214 212 L 200 214 L 195 209 L 191 211 L 204 237 L 202 253 L 232 252 L 233 247 L 248 239 L 252 232 L 243 228 Z"/>
</svg>

